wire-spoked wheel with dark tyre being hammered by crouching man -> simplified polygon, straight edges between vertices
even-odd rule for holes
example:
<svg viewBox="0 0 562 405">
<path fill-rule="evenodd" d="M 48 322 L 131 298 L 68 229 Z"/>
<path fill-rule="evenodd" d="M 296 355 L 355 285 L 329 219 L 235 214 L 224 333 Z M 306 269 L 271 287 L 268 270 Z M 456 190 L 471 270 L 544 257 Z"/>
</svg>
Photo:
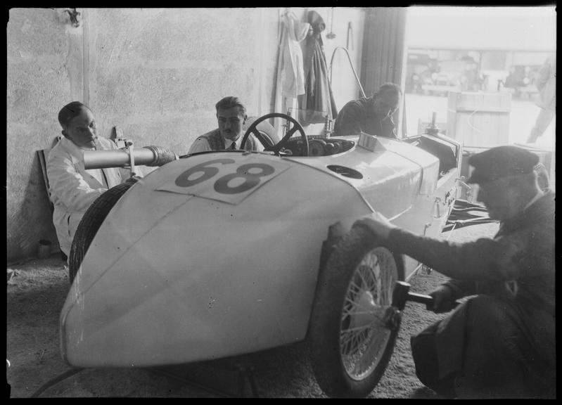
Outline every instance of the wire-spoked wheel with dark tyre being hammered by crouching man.
<svg viewBox="0 0 562 405">
<path fill-rule="evenodd" d="M 376 387 L 399 329 L 382 319 L 403 278 L 402 257 L 360 226 L 334 248 L 319 275 L 308 336 L 312 369 L 328 397 L 366 397 Z"/>
</svg>

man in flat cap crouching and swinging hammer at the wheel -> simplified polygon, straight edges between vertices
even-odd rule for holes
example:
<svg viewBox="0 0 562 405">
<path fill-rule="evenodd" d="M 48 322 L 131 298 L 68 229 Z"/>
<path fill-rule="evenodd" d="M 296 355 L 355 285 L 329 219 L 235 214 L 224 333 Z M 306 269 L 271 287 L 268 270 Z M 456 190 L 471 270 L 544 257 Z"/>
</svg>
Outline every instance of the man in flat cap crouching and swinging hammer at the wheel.
<svg viewBox="0 0 562 405">
<path fill-rule="evenodd" d="M 433 311 L 473 296 L 411 337 L 424 385 L 456 398 L 556 398 L 554 193 L 537 184 L 539 158 L 528 150 L 499 146 L 468 162 L 468 183 L 499 221 L 494 238 L 451 243 L 380 214 L 355 225 L 450 277 L 430 293 Z"/>
</svg>

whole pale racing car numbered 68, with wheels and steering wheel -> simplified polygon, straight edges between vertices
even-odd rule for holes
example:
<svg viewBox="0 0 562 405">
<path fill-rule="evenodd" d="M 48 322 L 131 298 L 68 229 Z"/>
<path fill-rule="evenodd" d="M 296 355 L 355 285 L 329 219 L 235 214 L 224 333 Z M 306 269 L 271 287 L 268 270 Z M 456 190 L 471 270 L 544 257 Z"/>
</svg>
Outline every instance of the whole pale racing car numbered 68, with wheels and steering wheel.
<svg viewBox="0 0 562 405">
<path fill-rule="evenodd" d="M 258 129 L 272 118 L 287 122 L 279 142 Z M 91 205 L 60 314 L 70 366 L 189 364 L 307 340 L 328 396 L 373 390 L 397 337 L 393 288 L 421 264 L 355 221 L 383 214 L 438 235 L 461 145 L 438 133 L 307 135 L 281 113 L 255 120 L 243 146 L 249 136 L 262 152 L 177 157 Z M 154 150 L 134 152 L 142 164 Z M 101 153 L 84 153 L 87 168 L 124 165 L 123 150 Z"/>
</svg>

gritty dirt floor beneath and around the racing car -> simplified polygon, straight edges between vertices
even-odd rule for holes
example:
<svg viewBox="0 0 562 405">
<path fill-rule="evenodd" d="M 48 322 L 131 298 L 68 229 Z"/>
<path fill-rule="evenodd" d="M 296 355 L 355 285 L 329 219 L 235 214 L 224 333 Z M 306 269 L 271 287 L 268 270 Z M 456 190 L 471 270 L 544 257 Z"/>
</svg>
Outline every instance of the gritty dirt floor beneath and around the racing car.
<svg viewBox="0 0 562 405">
<path fill-rule="evenodd" d="M 495 231 L 497 224 L 471 226 L 454 230 L 450 240 L 492 236 Z M 305 342 L 158 370 L 70 368 L 60 357 L 58 342 L 58 316 L 69 288 L 64 265 L 53 255 L 8 266 L 8 397 L 32 397 L 44 385 L 50 386 L 39 397 L 324 397 L 308 364 Z M 410 280 L 411 291 L 429 293 L 443 280 L 435 271 L 420 271 Z M 369 397 L 440 398 L 416 378 L 409 336 L 442 316 L 426 311 L 423 304 L 407 304 L 392 359 Z M 53 380 L 59 376 L 58 382 Z"/>
</svg>

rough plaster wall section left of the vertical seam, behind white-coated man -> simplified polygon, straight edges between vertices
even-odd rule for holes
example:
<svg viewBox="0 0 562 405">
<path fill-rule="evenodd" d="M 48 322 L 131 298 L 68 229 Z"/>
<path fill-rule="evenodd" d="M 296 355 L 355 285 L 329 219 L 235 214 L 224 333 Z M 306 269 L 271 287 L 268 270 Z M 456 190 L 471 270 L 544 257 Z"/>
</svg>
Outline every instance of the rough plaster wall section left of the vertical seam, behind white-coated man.
<svg viewBox="0 0 562 405">
<path fill-rule="evenodd" d="M 82 89 L 82 30 L 56 11 L 12 8 L 6 26 L 6 238 L 8 260 L 34 256 L 39 239 L 56 250 L 49 200 L 35 151 L 60 134 L 63 101 Z"/>
</svg>

